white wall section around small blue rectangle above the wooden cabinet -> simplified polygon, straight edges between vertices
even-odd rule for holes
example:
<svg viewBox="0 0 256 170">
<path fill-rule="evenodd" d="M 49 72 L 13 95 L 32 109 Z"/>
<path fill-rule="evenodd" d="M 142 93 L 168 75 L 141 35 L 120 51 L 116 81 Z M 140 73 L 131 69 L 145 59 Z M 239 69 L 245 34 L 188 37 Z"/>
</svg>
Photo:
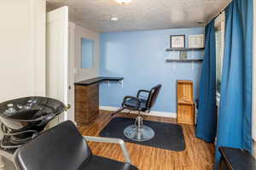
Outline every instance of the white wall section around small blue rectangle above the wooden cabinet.
<svg viewBox="0 0 256 170">
<path fill-rule="evenodd" d="M 81 69 L 81 38 L 95 41 L 94 68 Z M 84 27 L 75 26 L 75 82 L 83 81 L 91 77 L 99 76 L 99 33 L 90 31 Z"/>
</svg>

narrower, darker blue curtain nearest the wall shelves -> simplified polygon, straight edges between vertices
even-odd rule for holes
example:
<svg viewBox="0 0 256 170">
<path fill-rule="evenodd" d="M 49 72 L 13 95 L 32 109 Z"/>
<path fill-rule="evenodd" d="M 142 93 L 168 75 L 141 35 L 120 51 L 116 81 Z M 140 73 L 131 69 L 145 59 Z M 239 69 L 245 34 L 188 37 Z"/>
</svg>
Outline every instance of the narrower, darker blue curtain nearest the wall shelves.
<svg viewBox="0 0 256 170">
<path fill-rule="evenodd" d="M 216 42 L 214 20 L 206 27 L 205 59 L 201 70 L 196 137 L 213 142 L 216 137 Z"/>
</svg>

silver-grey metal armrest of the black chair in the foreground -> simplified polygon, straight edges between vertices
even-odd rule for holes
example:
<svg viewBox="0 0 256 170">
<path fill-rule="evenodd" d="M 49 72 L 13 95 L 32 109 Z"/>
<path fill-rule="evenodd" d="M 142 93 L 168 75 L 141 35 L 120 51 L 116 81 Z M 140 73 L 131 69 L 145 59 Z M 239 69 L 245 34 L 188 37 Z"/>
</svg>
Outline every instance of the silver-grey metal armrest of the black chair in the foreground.
<svg viewBox="0 0 256 170">
<path fill-rule="evenodd" d="M 116 139 L 116 138 L 102 138 L 102 137 L 95 137 L 95 136 L 84 136 L 84 139 L 86 141 L 91 142 L 101 142 L 101 143 L 108 143 L 108 144 L 119 144 L 123 154 L 125 156 L 125 162 L 131 164 L 131 159 L 128 150 L 126 149 L 126 145 L 124 140 L 122 139 Z"/>
</svg>

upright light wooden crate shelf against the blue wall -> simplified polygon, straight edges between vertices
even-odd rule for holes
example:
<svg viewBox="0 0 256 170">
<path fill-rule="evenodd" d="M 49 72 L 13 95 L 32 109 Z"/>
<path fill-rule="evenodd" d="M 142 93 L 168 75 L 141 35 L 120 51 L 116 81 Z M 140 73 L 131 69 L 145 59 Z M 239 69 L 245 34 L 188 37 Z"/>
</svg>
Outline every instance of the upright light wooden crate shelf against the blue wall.
<svg viewBox="0 0 256 170">
<path fill-rule="evenodd" d="M 177 122 L 195 124 L 193 82 L 177 81 Z"/>
</svg>

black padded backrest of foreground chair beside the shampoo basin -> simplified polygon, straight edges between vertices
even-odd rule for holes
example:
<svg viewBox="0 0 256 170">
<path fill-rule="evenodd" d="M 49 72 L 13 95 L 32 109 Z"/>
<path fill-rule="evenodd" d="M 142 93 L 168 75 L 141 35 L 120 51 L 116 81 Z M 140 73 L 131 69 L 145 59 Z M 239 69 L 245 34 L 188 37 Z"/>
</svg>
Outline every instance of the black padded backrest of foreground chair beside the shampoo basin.
<svg viewBox="0 0 256 170">
<path fill-rule="evenodd" d="M 21 146 L 15 153 L 15 164 L 21 170 L 75 170 L 90 156 L 79 130 L 68 121 Z"/>
</svg>

